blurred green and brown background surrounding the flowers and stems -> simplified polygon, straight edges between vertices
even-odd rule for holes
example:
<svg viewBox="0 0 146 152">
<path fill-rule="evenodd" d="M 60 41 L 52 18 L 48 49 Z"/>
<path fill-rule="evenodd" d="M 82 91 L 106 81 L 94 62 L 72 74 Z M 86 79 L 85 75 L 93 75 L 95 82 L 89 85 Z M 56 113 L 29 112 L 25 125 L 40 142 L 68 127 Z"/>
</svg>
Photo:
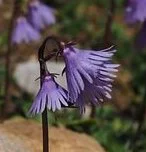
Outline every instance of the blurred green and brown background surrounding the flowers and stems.
<svg viewBox="0 0 146 152">
<path fill-rule="evenodd" d="M 1 7 L 0 19 L 0 106 L 4 99 L 4 54 L 7 48 L 8 22 L 11 14 L 11 2 Z M 105 25 L 110 9 L 107 0 L 46 0 L 56 9 L 57 23 L 43 32 L 59 36 L 62 40 L 75 40 L 82 48 L 104 48 Z M 107 152 L 145 152 L 146 151 L 146 49 L 135 47 L 135 37 L 139 26 L 128 27 L 123 19 L 124 1 L 116 1 L 116 12 L 111 26 L 112 44 L 117 53 L 114 62 L 121 64 L 113 87 L 113 99 L 104 106 L 91 109 L 92 113 L 83 117 L 76 109 L 49 113 L 51 125 L 64 125 L 77 132 L 85 132 L 103 145 Z M 43 40 L 42 38 L 42 40 Z M 27 60 L 35 55 L 41 44 L 19 46 L 12 53 L 15 65 L 19 60 Z M 20 51 L 20 52 L 19 52 Z M 22 55 L 22 52 L 24 53 Z M 12 101 L 21 107 L 15 109 L 10 117 L 27 116 L 32 95 L 23 89 L 20 91 L 12 78 Z M 21 101 L 20 101 L 21 100 Z M 35 117 L 40 121 L 39 117 Z"/>
</svg>

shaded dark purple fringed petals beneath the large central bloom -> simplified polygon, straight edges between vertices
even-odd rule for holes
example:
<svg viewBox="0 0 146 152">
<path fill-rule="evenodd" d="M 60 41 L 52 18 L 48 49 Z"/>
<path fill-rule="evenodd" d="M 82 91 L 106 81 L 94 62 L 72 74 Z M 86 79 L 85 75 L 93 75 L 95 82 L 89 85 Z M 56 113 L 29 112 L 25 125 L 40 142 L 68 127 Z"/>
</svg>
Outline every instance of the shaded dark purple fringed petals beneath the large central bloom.
<svg viewBox="0 0 146 152">
<path fill-rule="evenodd" d="M 87 80 L 84 80 L 84 82 L 85 90 L 82 91 L 75 103 L 79 107 L 81 113 L 85 112 L 86 104 L 98 106 L 103 103 L 103 101 L 112 98 L 111 85 L 101 85 L 97 80 L 94 80 L 94 84 L 88 83 Z"/>
</svg>

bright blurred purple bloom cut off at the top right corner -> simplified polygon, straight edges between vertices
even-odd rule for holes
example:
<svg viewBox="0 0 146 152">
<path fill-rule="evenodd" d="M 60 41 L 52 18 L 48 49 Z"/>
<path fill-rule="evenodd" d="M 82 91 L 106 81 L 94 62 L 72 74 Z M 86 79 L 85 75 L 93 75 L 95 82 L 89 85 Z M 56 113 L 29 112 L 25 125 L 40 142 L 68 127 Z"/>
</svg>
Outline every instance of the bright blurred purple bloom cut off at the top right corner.
<svg viewBox="0 0 146 152">
<path fill-rule="evenodd" d="M 146 19 L 146 0 L 126 0 L 125 20 L 128 24 Z"/>
</svg>

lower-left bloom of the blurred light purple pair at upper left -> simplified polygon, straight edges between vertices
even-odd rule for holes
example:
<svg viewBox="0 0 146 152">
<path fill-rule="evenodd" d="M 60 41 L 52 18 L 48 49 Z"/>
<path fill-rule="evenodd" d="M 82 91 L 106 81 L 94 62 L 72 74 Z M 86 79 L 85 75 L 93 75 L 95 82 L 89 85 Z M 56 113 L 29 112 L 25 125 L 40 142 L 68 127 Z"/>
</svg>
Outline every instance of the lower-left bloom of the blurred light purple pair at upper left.
<svg viewBox="0 0 146 152">
<path fill-rule="evenodd" d="M 14 29 L 12 31 L 12 43 L 30 43 L 31 41 L 38 41 L 40 33 L 36 31 L 26 20 L 21 16 L 16 19 Z"/>
</svg>

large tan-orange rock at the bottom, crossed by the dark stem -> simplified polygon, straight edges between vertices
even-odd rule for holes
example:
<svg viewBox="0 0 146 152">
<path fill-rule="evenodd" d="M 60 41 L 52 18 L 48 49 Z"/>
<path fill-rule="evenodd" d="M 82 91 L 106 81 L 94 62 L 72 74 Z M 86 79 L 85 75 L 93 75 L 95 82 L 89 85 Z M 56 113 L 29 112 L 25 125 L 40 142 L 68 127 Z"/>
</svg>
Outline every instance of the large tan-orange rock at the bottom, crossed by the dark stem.
<svg viewBox="0 0 146 152">
<path fill-rule="evenodd" d="M 51 152 L 105 152 L 91 137 L 65 128 L 50 127 Z M 0 125 L 0 152 L 41 152 L 41 125 L 21 118 Z"/>
</svg>

